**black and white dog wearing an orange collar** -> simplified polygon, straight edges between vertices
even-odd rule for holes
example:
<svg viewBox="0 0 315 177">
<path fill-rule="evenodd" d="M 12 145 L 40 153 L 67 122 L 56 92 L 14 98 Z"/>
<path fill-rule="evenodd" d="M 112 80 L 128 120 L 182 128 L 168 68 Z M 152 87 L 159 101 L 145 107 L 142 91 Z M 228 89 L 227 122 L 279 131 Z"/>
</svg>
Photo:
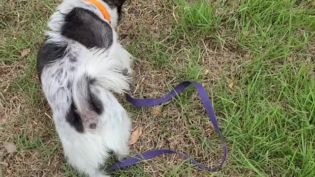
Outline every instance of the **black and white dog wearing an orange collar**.
<svg viewBox="0 0 315 177">
<path fill-rule="evenodd" d="M 131 55 L 115 32 L 125 0 L 63 0 L 37 56 L 42 89 L 67 161 L 89 177 L 113 151 L 129 153 L 130 119 L 114 96 L 129 89 Z"/>
</svg>

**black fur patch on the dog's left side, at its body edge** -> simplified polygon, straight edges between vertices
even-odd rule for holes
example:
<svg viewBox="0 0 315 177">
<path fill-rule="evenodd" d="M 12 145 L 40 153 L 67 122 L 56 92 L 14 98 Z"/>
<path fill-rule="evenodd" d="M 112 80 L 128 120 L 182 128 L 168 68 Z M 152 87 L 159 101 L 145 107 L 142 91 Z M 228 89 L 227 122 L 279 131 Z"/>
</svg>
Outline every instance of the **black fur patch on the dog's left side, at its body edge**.
<svg viewBox="0 0 315 177">
<path fill-rule="evenodd" d="M 40 79 L 41 72 L 47 63 L 61 59 L 67 46 L 60 46 L 54 43 L 44 43 L 37 54 L 37 74 Z"/>
</svg>

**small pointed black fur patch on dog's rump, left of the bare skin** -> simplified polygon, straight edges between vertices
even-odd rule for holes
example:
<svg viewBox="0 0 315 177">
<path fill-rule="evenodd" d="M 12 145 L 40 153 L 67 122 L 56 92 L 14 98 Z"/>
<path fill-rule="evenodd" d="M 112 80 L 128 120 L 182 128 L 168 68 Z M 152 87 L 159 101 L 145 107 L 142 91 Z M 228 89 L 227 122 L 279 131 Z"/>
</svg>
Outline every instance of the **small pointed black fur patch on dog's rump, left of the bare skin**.
<svg viewBox="0 0 315 177">
<path fill-rule="evenodd" d="M 69 124 L 73 128 L 75 128 L 79 133 L 84 132 L 82 120 L 81 120 L 81 118 L 77 112 L 77 108 L 75 107 L 75 104 L 73 102 L 71 103 L 69 112 L 65 118 L 69 122 Z"/>
</svg>

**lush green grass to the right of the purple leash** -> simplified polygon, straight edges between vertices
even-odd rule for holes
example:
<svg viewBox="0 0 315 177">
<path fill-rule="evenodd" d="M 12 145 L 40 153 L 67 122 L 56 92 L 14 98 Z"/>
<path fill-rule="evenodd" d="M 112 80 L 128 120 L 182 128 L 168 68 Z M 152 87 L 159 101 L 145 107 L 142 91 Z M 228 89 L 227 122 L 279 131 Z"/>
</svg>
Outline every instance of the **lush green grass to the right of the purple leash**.
<svg viewBox="0 0 315 177">
<path fill-rule="evenodd" d="M 241 0 L 223 22 L 214 13 L 216 6 L 231 10 L 226 1 L 178 1 L 180 33 L 194 31 L 223 42 L 234 35 L 235 52 L 252 56 L 237 89 L 229 93 L 219 81 L 213 90 L 215 108 L 226 115 L 221 126 L 234 164 L 227 168 L 252 176 L 313 176 L 315 59 L 308 55 L 308 43 L 314 7 L 306 7 L 307 1 Z M 227 32 L 220 34 L 220 27 Z M 290 61 L 293 56 L 298 60 Z"/>
</svg>

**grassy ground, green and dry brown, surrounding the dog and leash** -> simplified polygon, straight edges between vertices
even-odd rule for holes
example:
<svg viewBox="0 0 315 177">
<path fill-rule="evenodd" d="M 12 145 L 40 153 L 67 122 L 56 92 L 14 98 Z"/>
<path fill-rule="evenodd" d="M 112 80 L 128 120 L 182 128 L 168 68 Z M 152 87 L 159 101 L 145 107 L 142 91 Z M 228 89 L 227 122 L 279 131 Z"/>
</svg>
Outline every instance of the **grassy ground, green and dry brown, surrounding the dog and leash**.
<svg viewBox="0 0 315 177">
<path fill-rule="evenodd" d="M 0 2 L 0 177 L 83 177 L 63 160 L 35 71 L 58 3 Z M 112 176 L 314 177 L 315 1 L 127 0 L 124 12 L 121 41 L 136 58 L 132 95 L 202 83 L 228 157 L 218 172 L 165 155 Z M 173 148 L 206 166 L 220 162 L 221 142 L 193 88 L 154 109 L 121 100 L 133 129 L 142 128 L 131 154 Z"/>
</svg>

